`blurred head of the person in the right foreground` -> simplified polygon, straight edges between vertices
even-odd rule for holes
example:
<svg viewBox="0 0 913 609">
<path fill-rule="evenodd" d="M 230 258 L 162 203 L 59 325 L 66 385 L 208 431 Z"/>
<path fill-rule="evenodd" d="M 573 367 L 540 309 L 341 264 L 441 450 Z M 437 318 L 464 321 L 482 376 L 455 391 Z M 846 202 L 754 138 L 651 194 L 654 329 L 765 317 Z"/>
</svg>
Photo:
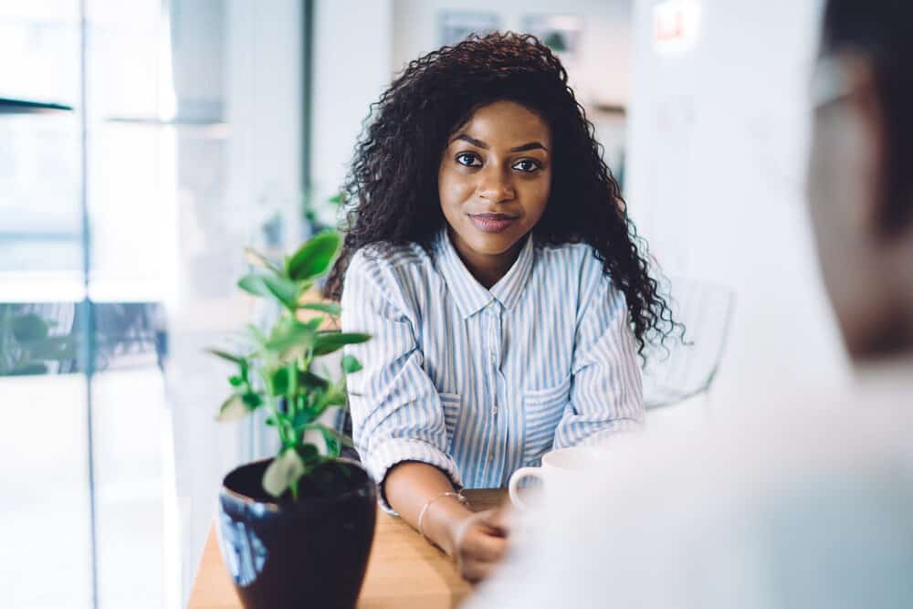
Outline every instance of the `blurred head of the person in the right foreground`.
<svg viewBox="0 0 913 609">
<path fill-rule="evenodd" d="M 829 0 L 809 199 L 852 356 L 913 348 L 913 3 Z"/>
</svg>

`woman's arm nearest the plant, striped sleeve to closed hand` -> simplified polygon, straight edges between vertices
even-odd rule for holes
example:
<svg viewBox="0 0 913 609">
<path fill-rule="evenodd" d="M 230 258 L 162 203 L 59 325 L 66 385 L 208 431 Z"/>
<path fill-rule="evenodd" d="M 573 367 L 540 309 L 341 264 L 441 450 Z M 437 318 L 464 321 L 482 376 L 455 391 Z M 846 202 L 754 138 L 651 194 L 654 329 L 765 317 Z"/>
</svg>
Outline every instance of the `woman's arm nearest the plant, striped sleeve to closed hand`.
<svg viewBox="0 0 913 609">
<path fill-rule="evenodd" d="M 349 376 L 355 444 L 380 484 L 383 507 L 417 530 L 428 505 L 425 535 L 456 559 L 464 577 L 482 579 L 505 551 L 505 528 L 497 513 L 473 514 L 458 500 L 440 497 L 458 488 L 459 472 L 447 453 L 440 397 L 415 341 L 415 313 L 384 264 L 353 257 L 342 293 L 343 331 L 373 336 L 346 350 L 363 366 Z"/>
</svg>

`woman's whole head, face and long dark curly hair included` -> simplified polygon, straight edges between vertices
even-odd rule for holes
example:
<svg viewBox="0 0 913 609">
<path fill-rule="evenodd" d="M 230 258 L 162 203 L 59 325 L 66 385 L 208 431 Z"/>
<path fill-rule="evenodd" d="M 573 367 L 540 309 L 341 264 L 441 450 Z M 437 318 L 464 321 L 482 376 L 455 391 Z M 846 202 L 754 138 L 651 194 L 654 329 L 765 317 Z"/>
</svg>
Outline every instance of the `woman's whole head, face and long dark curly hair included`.
<svg viewBox="0 0 913 609">
<path fill-rule="evenodd" d="M 540 243 L 593 246 L 641 347 L 648 331 L 671 328 L 593 125 L 549 47 L 470 37 L 412 61 L 372 110 L 344 185 L 352 213 L 329 296 L 369 244 L 430 250 L 449 226 L 464 257 L 499 256 L 535 227 Z"/>
</svg>

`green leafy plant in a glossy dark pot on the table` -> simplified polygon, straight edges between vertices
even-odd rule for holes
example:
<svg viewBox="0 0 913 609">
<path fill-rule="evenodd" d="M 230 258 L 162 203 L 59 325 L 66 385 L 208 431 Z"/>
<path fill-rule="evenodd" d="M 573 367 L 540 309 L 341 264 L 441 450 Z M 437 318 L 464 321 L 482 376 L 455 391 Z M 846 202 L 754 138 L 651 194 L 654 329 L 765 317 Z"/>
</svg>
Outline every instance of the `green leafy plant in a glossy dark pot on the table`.
<svg viewBox="0 0 913 609">
<path fill-rule="evenodd" d="M 243 354 L 211 350 L 237 366 L 218 419 L 265 410 L 280 444 L 276 457 L 230 472 L 219 496 L 222 556 L 248 608 L 353 607 L 367 567 L 376 489 L 358 463 L 339 457 L 348 438 L 320 422 L 328 408 L 345 405 L 346 374 L 361 364 L 342 357 L 338 380 L 313 364 L 369 336 L 323 330 L 323 315 L 304 319 L 309 310 L 341 312 L 335 303 L 304 300 L 340 244 L 338 233 L 320 233 L 282 266 L 247 250 L 259 268 L 238 287 L 276 301 L 281 315 L 268 331 L 248 326 Z"/>
</svg>

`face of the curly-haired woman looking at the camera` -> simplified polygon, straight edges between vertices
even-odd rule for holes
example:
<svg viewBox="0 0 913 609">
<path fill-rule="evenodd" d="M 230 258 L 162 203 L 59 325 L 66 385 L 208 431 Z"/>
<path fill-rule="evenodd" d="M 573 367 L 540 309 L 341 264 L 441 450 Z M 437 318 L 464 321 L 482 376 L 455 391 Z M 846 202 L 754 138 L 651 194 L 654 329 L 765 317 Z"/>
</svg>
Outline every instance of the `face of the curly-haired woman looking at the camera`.
<svg viewBox="0 0 913 609">
<path fill-rule="evenodd" d="M 551 190 L 551 131 L 512 101 L 481 106 L 447 142 L 437 189 L 456 250 L 472 266 L 515 255 Z"/>
</svg>

